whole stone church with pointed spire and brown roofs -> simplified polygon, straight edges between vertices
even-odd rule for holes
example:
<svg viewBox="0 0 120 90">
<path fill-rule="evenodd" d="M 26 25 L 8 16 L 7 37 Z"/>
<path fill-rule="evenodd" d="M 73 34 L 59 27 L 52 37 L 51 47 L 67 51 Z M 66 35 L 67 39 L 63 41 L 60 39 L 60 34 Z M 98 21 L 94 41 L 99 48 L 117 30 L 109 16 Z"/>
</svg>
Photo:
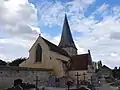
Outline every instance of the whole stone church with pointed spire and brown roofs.
<svg viewBox="0 0 120 90">
<path fill-rule="evenodd" d="M 53 69 L 52 74 L 57 77 L 70 76 L 73 79 L 79 73 L 81 80 L 89 80 L 95 71 L 90 50 L 85 54 L 77 54 L 66 15 L 59 45 L 39 35 L 29 50 L 28 59 L 19 66 Z"/>
</svg>

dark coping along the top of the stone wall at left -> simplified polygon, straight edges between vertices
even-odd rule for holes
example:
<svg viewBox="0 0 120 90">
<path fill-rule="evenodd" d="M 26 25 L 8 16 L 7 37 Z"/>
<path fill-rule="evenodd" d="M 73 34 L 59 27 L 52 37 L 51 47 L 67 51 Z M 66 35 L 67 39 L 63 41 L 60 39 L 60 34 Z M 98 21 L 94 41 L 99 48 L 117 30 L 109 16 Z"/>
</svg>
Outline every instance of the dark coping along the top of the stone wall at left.
<svg viewBox="0 0 120 90">
<path fill-rule="evenodd" d="M 20 71 L 52 71 L 53 69 L 45 68 L 29 68 L 29 67 L 17 67 L 17 66 L 0 66 L 0 70 L 20 70 Z"/>
</svg>

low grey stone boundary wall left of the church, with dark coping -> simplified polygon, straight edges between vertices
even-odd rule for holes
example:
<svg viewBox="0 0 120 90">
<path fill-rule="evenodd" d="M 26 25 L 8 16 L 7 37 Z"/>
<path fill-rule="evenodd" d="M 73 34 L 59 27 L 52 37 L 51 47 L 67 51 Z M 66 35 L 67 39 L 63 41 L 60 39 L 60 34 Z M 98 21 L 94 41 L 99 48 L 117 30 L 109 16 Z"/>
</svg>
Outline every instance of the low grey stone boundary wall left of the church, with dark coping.
<svg viewBox="0 0 120 90">
<path fill-rule="evenodd" d="M 36 76 L 38 76 L 38 80 L 44 83 L 50 72 L 52 72 L 49 69 L 27 69 L 7 66 L 0 67 L 0 87 L 11 87 L 15 79 L 22 79 L 23 82 L 35 84 Z"/>
</svg>

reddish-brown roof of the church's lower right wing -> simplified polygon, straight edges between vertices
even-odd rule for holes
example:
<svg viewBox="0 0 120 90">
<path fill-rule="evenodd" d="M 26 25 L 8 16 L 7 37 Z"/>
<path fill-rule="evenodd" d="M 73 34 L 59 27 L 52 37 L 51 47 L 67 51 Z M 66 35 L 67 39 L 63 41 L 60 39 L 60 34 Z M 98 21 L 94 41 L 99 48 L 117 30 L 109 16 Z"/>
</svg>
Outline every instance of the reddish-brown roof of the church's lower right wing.
<svg viewBox="0 0 120 90">
<path fill-rule="evenodd" d="M 89 53 L 72 56 L 71 58 L 71 70 L 87 70 L 88 65 L 92 65 L 92 59 Z"/>
</svg>

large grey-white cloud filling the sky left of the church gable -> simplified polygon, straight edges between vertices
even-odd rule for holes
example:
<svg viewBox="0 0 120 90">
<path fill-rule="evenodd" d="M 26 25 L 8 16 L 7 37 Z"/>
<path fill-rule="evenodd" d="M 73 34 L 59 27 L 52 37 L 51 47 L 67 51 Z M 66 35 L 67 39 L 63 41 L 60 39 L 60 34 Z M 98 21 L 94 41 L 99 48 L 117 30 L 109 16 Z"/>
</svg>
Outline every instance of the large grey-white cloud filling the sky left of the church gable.
<svg viewBox="0 0 120 90">
<path fill-rule="evenodd" d="M 28 56 L 38 36 L 36 9 L 27 0 L 0 0 L 0 58 Z"/>
</svg>

